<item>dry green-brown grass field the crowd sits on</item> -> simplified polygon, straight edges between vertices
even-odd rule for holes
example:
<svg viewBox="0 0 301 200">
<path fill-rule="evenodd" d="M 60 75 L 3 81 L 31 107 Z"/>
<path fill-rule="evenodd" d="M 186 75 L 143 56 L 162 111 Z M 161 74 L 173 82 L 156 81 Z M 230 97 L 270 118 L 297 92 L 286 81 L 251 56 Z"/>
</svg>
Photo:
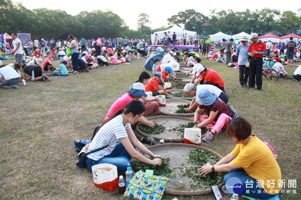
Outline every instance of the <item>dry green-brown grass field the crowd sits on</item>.
<svg viewBox="0 0 301 200">
<path fill-rule="evenodd" d="M 117 191 L 94 186 L 92 173 L 75 165 L 73 141 L 91 138 L 113 102 L 145 70 L 145 60 L 51 76 L 51 82 L 27 82 L 19 84 L 20 89 L 1 89 L 0 199 L 126 199 Z M 54 64 L 58 67 L 58 62 Z M 201 64 L 221 75 L 229 103 L 250 121 L 254 134 L 275 148 L 282 179 L 296 179 L 296 194 L 286 184 L 285 190 L 291 191 L 280 194 L 280 199 L 301 199 L 299 82 L 290 78 L 268 82 L 263 77 L 262 91 L 249 91 L 238 88 L 238 69 L 207 59 Z M 292 74 L 296 66 L 284 68 Z M 225 156 L 235 145 L 222 131 L 203 146 Z M 212 194 L 188 198 L 165 194 L 163 199 L 175 197 L 214 199 Z"/>
</svg>

